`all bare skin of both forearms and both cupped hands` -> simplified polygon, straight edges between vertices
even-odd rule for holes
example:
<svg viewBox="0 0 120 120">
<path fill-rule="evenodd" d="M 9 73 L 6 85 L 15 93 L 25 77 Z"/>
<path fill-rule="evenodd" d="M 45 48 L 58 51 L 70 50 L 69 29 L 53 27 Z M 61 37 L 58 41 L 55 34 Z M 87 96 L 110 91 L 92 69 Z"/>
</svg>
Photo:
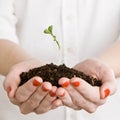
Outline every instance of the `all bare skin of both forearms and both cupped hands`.
<svg viewBox="0 0 120 120">
<path fill-rule="evenodd" d="M 102 80 L 103 84 L 100 88 L 92 87 L 80 78 L 72 78 L 71 80 L 61 78 L 59 84 L 63 87 L 57 89 L 50 83 L 42 82 L 42 79 L 37 76 L 18 87 L 20 83 L 19 74 L 22 71 L 43 65 L 43 63 L 31 58 L 20 46 L 12 42 L 0 41 L 0 46 L 4 46 L 2 47 L 3 50 L 0 51 L 2 56 L 0 72 L 6 76 L 4 88 L 11 102 L 18 105 L 23 114 L 30 112 L 42 114 L 61 105 L 76 110 L 84 109 L 92 113 L 106 102 L 109 95 L 116 91 L 115 77 L 120 76 L 120 55 L 118 52 L 120 51 L 120 41 L 102 53 L 97 59 L 85 60 L 74 67 Z M 111 56 L 116 59 L 112 59 Z M 36 86 L 34 81 L 39 84 Z M 64 85 L 66 82 L 68 83 L 67 86 Z M 56 94 L 51 96 L 51 91 Z"/>
</svg>

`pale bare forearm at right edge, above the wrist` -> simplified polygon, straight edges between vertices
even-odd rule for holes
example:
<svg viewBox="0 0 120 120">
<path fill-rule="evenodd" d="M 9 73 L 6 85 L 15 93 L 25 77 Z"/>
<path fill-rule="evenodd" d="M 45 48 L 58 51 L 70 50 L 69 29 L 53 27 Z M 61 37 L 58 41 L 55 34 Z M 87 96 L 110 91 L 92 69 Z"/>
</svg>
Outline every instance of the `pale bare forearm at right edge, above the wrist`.
<svg viewBox="0 0 120 120">
<path fill-rule="evenodd" d="M 102 53 L 99 58 L 113 69 L 116 77 L 120 77 L 120 40 Z"/>
</svg>

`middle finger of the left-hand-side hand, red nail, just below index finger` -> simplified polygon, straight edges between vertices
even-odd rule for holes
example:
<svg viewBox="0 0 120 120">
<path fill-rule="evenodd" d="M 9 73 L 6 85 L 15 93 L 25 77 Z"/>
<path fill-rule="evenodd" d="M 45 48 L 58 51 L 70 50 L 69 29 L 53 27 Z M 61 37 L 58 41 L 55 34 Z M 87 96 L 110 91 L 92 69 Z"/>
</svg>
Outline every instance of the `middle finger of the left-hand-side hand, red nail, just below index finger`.
<svg viewBox="0 0 120 120">
<path fill-rule="evenodd" d="M 51 91 L 52 85 L 49 82 L 44 82 L 35 92 L 24 102 L 20 110 L 23 114 L 28 114 L 37 108 Z"/>
</svg>

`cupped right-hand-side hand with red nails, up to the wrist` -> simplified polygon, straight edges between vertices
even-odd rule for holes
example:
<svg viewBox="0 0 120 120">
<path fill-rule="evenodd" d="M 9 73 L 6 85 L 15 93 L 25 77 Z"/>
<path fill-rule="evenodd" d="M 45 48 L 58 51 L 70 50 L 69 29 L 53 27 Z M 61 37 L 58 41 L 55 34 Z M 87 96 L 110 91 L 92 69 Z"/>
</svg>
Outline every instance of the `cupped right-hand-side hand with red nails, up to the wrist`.
<svg viewBox="0 0 120 120">
<path fill-rule="evenodd" d="M 93 113 L 103 105 L 107 97 L 116 91 L 116 79 L 113 70 L 98 59 L 87 59 L 77 64 L 74 69 L 84 72 L 86 75 L 102 81 L 102 86 L 91 86 L 81 78 L 61 78 L 62 86 L 56 91 L 56 95 L 63 104 L 75 110 L 84 109 Z"/>
</svg>

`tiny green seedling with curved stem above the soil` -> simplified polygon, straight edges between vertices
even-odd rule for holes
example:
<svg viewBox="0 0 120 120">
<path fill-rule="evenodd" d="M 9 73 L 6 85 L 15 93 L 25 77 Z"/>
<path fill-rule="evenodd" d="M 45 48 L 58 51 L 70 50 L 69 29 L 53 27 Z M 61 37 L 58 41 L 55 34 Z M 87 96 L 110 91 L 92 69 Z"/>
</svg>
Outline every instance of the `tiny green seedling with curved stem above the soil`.
<svg viewBox="0 0 120 120">
<path fill-rule="evenodd" d="M 59 42 L 57 41 L 56 36 L 53 34 L 53 31 L 52 31 L 52 30 L 53 30 L 53 26 L 50 25 L 47 29 L 44 30 L 44 33 L 45 33 L 45 34 L 50 34 L 50 35 L 53 37 L 53 41 L 57 44 L 58 49 L 60 50 L 60 44 L 59 44 Z"/>
</svg>

